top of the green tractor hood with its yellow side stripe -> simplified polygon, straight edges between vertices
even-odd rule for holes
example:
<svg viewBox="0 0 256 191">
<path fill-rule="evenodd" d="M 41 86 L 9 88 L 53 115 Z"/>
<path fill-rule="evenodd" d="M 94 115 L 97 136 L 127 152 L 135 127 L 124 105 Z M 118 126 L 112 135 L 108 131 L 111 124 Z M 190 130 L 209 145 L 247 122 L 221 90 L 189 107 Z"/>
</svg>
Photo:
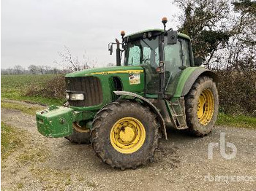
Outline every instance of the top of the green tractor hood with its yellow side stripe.
<svg viewBox="0 0 256 191">
<path fill-rule="evenodd" d="M 140 66 L 114 66 L 98 69 L 86 69 L 82 71 L 75 71 L 67 74 L 66 77 L 86 77 L 91 75 L 108 75 L 108 74 L 130 74 L 143 73 L 143 68 Z"/>
</svg>

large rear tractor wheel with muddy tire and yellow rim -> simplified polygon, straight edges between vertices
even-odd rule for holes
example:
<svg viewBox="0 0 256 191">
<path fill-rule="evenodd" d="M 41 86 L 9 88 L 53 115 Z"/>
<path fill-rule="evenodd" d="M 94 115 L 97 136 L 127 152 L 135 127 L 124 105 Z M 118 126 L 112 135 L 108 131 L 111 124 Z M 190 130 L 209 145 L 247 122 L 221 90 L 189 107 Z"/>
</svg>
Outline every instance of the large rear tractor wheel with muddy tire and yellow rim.
<svg viewBox="0 0 256 191">
<path fill-rule="evenodd" d="M 187 126 L 195 136 L 211 133 L 219 111 L 218 90 L 210 77 L 199 77 L 185 96 Z"/>
</svg>

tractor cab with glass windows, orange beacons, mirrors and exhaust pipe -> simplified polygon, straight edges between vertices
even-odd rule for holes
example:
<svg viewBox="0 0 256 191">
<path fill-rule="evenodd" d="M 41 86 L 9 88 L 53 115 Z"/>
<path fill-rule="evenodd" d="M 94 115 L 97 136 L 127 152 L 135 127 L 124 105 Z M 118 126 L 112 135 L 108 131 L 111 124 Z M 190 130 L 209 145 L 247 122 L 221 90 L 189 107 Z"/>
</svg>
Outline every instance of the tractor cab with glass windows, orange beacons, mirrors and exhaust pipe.
<svg viewBox="0 0 256 191">
<path fill-rule="evenodd" d="M 167 23 L 166 17 L 162 23 Z M 172 28 L 149 29 L 125 36 L 121 31 L 122 43 L 117 44 L 117 66 L 141 66 L 145 71 L 145 93 L 172 97 L 181 72 L 195 66 L 189 36 L 173 31 Z M 122 45 L 122 50 L 120 49 Z M 124 63 L 121 58 L 124 54 Z M 200 66 L 201 63 L 196 63 Z M 165 95 L 164 95 L 165 94 Z"/>
</svg>

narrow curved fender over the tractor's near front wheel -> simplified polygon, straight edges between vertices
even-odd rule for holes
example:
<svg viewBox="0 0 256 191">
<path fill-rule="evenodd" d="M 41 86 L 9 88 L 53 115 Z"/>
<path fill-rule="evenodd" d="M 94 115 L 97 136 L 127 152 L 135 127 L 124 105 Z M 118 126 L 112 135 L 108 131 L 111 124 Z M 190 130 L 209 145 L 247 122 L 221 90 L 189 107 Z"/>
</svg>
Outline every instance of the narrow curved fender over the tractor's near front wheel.
<svg viewBox="0 0 256 191">
<path fill-rule="evenodd" d="M 131 96 L 133 98 L 138 98 L 138 99 L 140 99 L 140 101 L 143 102 L 143 104 L 148 106 L 154 112 L 154 114 L 157 115 L 157 120 L 159 121 L 159 123 L 161 125 L 160 129 L 162 131 L 162 135 L 165 136 L 165 139 L 167 140 L 167 133 L 166 133 L 166 128 L 165 128 L 164 118 L 162 117 L 162 114 L 160 114 L 160 112 L 158 111 L 157 107 L 154 106 L 154 104 L 152 104 L 147 98 L 144 98 L 136 93 L 131 93 L 131 92 L 127 92 L 127 91 L 114 91 L 114 93 L 116 95 L 127 95 L 127 96 Z"/>
</svg>

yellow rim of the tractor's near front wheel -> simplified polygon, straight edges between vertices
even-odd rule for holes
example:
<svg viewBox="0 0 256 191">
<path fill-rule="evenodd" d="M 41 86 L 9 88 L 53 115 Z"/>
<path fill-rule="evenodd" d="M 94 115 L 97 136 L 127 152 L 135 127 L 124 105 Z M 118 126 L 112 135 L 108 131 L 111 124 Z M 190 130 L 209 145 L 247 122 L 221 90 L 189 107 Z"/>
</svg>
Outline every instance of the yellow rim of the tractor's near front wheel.
<svg viewBox="0 0 256 191">
<path fill-rule="evenodd" d="M 146 130 L 143 124 L 133 117 L 121 118 L 110 131 L 110 142 L 113 148 L 124 154 L 138 151 L 145 139 Z"/>
</svg>

